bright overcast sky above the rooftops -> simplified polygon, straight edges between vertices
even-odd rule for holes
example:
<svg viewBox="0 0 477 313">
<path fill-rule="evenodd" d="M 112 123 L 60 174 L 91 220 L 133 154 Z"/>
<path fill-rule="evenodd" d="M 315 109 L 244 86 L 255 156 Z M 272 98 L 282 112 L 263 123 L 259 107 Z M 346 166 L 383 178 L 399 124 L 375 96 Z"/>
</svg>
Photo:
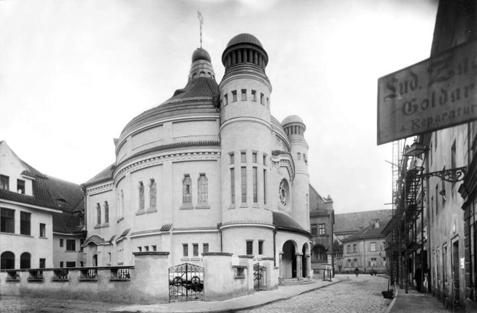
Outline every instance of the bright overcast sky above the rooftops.
<svg viewBox="0 0 477 313">
<path fill-rule="evenodd" d="M 303 118 L 310 183 L 335 213 L 390 209 L 377 82 L 429 57 L 434 0 L 0 1 L 0 140 L 47 175 L 86 182 L 114 162 L 134 116 L 186 85 L 197 10 L 217 83 L 232 37 L 262 42 L 272 115 Z"/>
</svg>

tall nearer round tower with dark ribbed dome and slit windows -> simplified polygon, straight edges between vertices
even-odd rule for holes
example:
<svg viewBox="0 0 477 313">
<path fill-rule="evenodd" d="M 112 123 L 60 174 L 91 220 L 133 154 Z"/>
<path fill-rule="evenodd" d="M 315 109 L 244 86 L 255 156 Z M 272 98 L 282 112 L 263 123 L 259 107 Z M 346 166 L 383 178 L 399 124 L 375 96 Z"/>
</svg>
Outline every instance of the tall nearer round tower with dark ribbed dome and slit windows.
<svg viewBox="0 0 477 313">
<path fill-rule="evenodd" d="M 273 255 L 270 197 L 270 93 L 267 52 L 250 34 L 233 37 L 222 54 L 219 84 L 222 234 L 234 255 Z M 245 228 L 244 228 L 245 227 Z M 250 229 L 248 229 L 250 227 Z M 252 235 L 253 234 L 253 235 Z M 246 251 L 246 237 L 255 238 Z M 265 240 L 267 246 L 259 247 Z M 268 245 L 268 243 L 270 243 Z M 236 248 L 234 248 L 236 247 Z"/>
</svg>

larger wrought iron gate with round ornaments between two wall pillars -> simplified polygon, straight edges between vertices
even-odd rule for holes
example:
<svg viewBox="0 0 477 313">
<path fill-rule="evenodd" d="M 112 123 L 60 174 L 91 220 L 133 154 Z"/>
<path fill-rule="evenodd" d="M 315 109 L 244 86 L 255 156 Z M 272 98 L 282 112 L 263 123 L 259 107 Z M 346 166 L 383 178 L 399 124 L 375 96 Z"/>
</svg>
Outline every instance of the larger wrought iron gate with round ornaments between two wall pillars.
<svg viewBox="0 0 477 313">
<path fill-rule="evenodd" d="M 169 302 L 204 301 L 204 268 L 183 263 L 169 268 Z"/>
</svg>

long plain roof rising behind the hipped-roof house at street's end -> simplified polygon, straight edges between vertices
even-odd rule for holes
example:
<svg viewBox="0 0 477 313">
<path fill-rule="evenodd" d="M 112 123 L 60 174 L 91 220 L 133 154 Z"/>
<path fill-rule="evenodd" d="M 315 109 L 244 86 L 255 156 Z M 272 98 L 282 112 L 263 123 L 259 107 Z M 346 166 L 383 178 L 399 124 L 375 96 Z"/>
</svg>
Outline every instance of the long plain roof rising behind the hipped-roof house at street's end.
<svg viewBox="0 0 477 313">
<path fill-rule="evenodd" d="M 367 227 L 371 222 L 378 219 L 387 221 L 391 218 L 392 210 L 361 211 L 353 213 L 336 214 L 333 231 L 335 234 L 356 232 L 360 227 Z"/>
</svg>

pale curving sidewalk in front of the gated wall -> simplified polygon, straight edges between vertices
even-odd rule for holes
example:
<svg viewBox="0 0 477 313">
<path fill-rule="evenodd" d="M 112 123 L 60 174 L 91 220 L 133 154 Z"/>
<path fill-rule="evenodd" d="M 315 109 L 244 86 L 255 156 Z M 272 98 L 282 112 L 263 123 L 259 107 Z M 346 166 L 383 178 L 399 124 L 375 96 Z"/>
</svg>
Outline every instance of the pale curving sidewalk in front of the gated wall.
<svg viewBox="0 0 477 313">
<path fill-rule="evenodd" d="M 248 310 L 265 305 L 267 303 L 287 299 L 295 295 L 307 293 L 325 286 L 336 284 L 341 279 L 333 278 L 333 281 L 315 280 L 313 283 L 304 285 L 279 286 L 276 290 L 256 292 L 253 295 L 245 295 L 224 301 L 214 302 L 173 302 L 150 305 L 121 305 L 113 308 L 112 312 L 235 312 Z"/>
</svg>

